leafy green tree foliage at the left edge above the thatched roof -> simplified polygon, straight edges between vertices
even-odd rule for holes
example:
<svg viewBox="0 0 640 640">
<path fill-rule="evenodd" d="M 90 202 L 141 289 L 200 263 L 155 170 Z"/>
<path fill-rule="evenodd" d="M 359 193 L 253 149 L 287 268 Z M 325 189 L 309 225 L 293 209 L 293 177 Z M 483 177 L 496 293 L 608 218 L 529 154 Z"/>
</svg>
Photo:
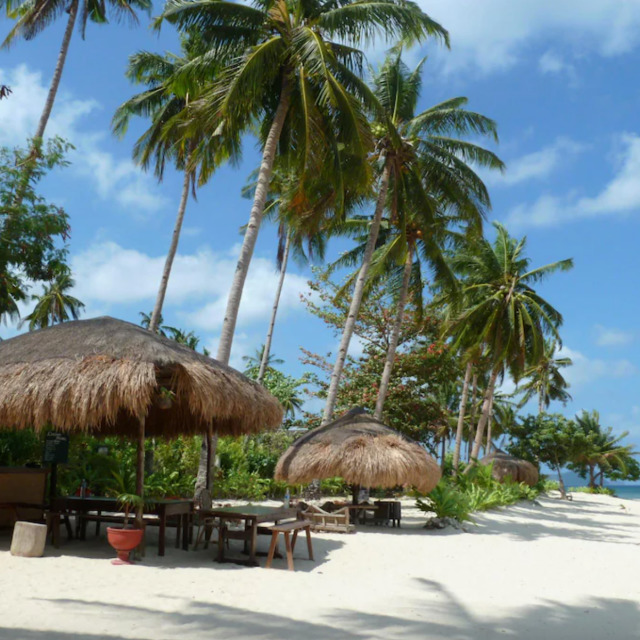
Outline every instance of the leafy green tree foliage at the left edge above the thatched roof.
<svg viewBox="0 0 640 640">
<path fill-rule="evenodd" d="M 5 322 L 19 318 L 18 303 L 27 299 L 31 282 L 51 282 L 65 266 L 67 250 L 60 243 L 69 236 L 68 216 L 36 187 L 50 171 L 66 166 L 70 148 L 61 138 L 31 154 L 0 148 L 0 320 Z"/>
</svg>

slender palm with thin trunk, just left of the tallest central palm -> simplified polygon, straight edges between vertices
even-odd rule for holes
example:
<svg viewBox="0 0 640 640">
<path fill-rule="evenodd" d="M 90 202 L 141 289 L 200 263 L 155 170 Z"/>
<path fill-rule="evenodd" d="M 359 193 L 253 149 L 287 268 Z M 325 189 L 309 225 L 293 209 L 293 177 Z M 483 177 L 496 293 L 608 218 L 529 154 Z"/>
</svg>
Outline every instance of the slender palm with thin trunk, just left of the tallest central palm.
<svg viewBox="0 0 640 640">
<path fill-rule="evenodd" d="M 198 41 L 193 38 L 184 40 L 183 50 L 184 57 L 178 57 L 173 54 L 161 56 L 146 51 L 131 56 L 126 75 L 132 82 L 145 84 L 147 89 L 120 105 L 112 121 L 112 127 L 116 135 L 123 136 L 129 127 L 132 117 L 150 117 L 151 126 L 142 134 L 134 146 L 134 158 L 145 169 L 148 168 L 153 160 L 155 174 L 159 181 L 162 181 L 168 160 L 173 161 L 177 168 L 184 172 L 182 192 L 171 243 L 148 326 L 149 330 L 153 332 L 158 331 L 161 323 L 162 307 L 169 284 L 171 268 L 178 250 L 180 231 L 190 189 L 195 198 L 195 171 L 191 162 L 192 157 L 197 148 L 201 162 L 204 160 L 203 156 L 206 156 L 207 169 L 205 172 L 201 172 L 200 176 L 200 184 L 203 184 L 218 164 L 234 154 L 234 145 L 225 143 L 225 140 L 220 137 L 204 142 L 196 136 L 180 136 L 176 139 L 174 136 L 166 134 L 168 123 L 188 107 L 189 100 L 193 99 L 199 90 L 199 87 L 193 83 L 185 83 L 182 78 L 178 81 L 181 69 L 198 50 Z M 173 130 L 173 133 L 175 133 L 175 130 Z"/>
</svg>

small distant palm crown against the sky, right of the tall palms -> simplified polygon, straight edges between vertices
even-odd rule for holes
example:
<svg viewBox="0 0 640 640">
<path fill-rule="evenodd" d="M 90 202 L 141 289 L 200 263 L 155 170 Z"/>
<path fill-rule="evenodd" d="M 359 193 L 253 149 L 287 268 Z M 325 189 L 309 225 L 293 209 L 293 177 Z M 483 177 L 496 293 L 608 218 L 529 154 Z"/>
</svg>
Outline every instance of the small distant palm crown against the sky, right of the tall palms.
<svg viewBox="0 0 640 640">
<path fill-rule="evenodd" d="M 525 370 L 524 377 L 528 380 L 522 385 L 524 395 L 520 401 L 521 407 L 534 396 L 538 397 L 538 413 L 548 409 L 552 400 L 559 400 L 563 404 L 571 400 L 567 392 L 569 383 L 560 369 L 570 367 L 573 362 L 571 358 L 556 357 L 557 348 L 557 342 L 545 340 L 542 357 Z"/>
</svg>

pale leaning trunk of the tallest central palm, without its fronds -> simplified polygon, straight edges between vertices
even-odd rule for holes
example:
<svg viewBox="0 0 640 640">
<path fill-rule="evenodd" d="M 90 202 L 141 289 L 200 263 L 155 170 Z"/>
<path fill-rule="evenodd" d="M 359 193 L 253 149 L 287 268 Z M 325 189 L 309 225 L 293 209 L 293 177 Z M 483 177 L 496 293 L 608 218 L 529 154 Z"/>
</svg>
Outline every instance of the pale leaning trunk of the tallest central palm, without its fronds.
<svg viewBox="0 0 640 640">
<path fill-rule="evenodd" d="M 271 174 L 273 172 L 273 162 L 276 157 L 280 133 L 282 132 L 282 127 L 284 126 L 284 121 L 287 117 L 287 112 L 289 111 L 290 101 L 291 91 L 288 80 L 285 76 L 282 83 L 282 90 L 280 92 L 280 103 L 276 109 L 273 122 L 271 123 L 271 128 L 269 129 L 269 135 L 267 136 L 267 141 L 265 142 L 264 150 L 262 152 L 262 163 L 260 164 L 260 171 L 258 173 L 258 182 L 253 199 L 253 206 L 251 207 L 251 215 L 249 216 L 249 224 L 247 224 L 244 240 L 242 241 L 238 264 L 233 276 L 231 291 L 229 292 L 222 331 L 220 332 L 220 344 L 218 345 L 217 358 L 223 364 L 229 364 L 229 356 L 231 355 L 231 345 L 233 344 L 233 334 L 238 320 L 238 309 L 240 308 L 242 291 L 244 289 L 245 280 L 247 279 L 249 263 L 253 256 L 256 240 L 258 239 L 258 232 L 260 231 L 260 224 L 264 214 L 264 205 L 267 200 Z"/>
</svg>

